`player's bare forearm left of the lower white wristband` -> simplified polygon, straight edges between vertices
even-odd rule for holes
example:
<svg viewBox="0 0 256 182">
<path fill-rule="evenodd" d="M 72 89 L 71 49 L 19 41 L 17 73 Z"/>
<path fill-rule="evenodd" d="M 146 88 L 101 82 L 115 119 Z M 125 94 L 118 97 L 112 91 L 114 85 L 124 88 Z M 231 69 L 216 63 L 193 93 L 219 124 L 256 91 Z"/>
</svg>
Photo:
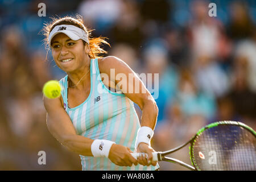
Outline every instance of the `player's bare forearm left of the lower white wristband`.
<svg viewBox="0 0 256 182">
<path fill-rule="evenodd" d="M 92 139 L 80 135 L 66 135 L 61 138 L 61 143 L 69 150 L 80 155 L 93 156 L 91 151 Z"/>
</svg>

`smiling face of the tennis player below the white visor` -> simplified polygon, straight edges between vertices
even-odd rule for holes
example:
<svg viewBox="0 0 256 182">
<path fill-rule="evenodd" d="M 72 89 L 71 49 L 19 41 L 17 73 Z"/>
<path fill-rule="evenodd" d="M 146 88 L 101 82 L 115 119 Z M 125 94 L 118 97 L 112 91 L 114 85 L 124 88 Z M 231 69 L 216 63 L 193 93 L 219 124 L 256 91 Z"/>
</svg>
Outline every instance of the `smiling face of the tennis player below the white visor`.
<svg viewBox="0 0 256 182">
<path fill-rule="evenodd" d="M 88 45 L 84 46 L 81 39 L 71 40 L 67 35 L 60 33 L 52 39 L 52 57 L 60 69 L 65 72 L 74 72 L 88 64 L 86 63 L 88 47 Z"/>
</svg>

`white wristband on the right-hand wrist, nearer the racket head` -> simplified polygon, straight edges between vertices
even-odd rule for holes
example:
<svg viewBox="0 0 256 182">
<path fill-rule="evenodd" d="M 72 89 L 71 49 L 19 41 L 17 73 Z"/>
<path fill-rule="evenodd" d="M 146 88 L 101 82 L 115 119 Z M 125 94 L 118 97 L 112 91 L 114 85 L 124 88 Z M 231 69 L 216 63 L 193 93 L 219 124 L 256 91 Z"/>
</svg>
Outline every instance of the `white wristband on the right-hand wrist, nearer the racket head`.
<svg viewBox="0 0 256 182">
<path fill-rule="evenodd" d="M 138 130 L 137 140 L 136 140 L 136 148 L 138 148 L 139 143 L 147 143 L 150 146 L 150 140 L 154 135 L 154 131 L 147 126 L 142 126 Z"/>
</svg>

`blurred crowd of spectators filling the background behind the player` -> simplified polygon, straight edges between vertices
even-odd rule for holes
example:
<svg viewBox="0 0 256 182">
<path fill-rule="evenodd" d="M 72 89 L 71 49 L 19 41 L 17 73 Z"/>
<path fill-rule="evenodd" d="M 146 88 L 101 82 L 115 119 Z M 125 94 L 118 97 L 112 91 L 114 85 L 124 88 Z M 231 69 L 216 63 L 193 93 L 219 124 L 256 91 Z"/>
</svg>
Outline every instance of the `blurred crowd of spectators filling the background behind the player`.
<svg viewBox="0 0 256 182">
<path fill-rule="evenodd" d="M 45 17 L 38 16 L 40 2 Z M 79 156 L 47 130 L 42 102 L 44 83 L 65 76 L 40 34 L 56 15 L 82 15 L 93 36 L 108 38 L 108 55 L 138 74 L 159 73 L 156 151 L 187 142 L 211 122 L 241 121 L 255 130 L 256 3 L 211 2 L 217 17 L 203 0 L 1 0 L 0 170 L 81 170 Z M 46 165 L 38 164 L 39 151 Z M 188 148 L 178 153 L 172 157 L 190 163 Z M 185 168 L 160 162 L 160 170 Z"/>
</svg>

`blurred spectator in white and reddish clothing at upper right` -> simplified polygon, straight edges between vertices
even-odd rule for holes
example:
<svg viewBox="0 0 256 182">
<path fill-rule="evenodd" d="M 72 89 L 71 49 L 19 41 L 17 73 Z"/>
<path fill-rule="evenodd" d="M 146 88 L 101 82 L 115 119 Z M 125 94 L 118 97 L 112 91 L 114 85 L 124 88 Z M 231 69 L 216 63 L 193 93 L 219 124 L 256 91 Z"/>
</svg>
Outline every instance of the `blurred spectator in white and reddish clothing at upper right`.
<svg viewBox="0 0 256 182">
<path fill-rule="evenodd" d="M 192 19 L 187 28 L 192 57 L 197 57 L 201 52 L 213 59 L 225 57 L 230 49 L 225 42 L 224 27 L 220 21 L 208 15 L 208 5 L 207 1 L 202 0 L 191 2 Z M 220 44 L 222 49 L 219 48 Z"/>
</svg>

